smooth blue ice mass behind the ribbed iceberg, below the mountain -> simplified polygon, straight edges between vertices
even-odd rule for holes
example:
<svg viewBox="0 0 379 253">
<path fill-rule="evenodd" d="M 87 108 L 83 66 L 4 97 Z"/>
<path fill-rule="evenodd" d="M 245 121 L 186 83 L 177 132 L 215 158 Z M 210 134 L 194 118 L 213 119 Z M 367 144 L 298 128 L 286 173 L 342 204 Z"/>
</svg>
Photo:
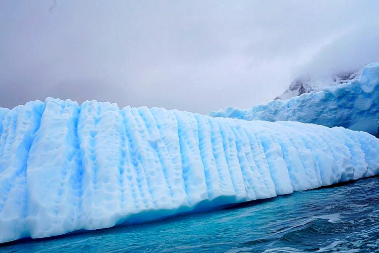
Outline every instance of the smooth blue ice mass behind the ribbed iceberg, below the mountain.
<svg viewBox="0 0 379 253">
<path fill-rule="evenodd" d="M 213 117 L 245 120 L 291 120 L 365 131 L 379 137 L 379 63 L 367 65 L 359 80 L 250 109 L 212 111 Z"/>
</svg>

